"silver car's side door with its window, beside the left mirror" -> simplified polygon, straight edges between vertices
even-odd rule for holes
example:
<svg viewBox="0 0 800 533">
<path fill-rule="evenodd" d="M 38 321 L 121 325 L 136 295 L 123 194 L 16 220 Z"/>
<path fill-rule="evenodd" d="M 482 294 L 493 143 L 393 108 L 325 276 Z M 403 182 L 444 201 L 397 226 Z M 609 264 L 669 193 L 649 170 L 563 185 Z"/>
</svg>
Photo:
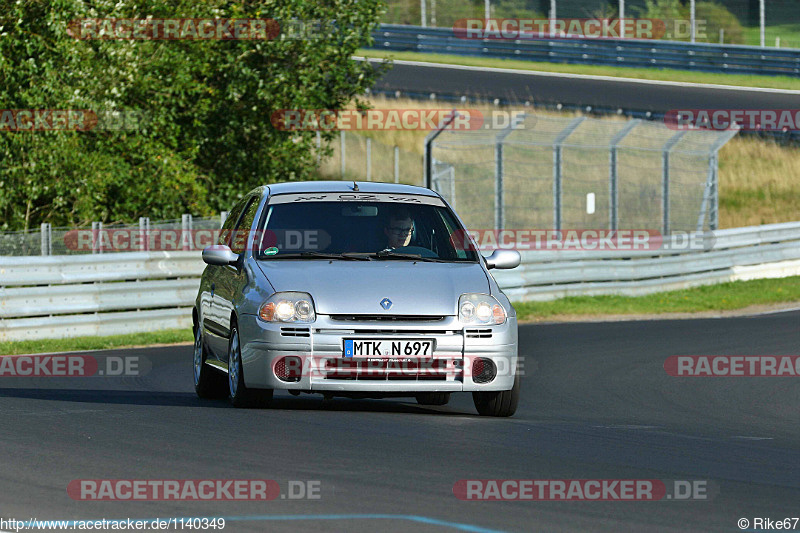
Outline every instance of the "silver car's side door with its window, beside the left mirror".
<svg viewBox="0 0 800 533">
<path fill-rule="evenodd" d="M 258 211 L 259 196 L 251 195 L 245 198 L 245 207 L 242 216 L 234 226 L 233 234 L 230 238 L 231 250 L 239 254 L 240 261 L 237 265 L 226 265 L 219 267 L 220 272 L 216 283 L 216 294 L 214 296 L 214 304 L 217 306 L 216 313 L 219 316 L 220 329 L 225 332 L 226 339 L 230 338 L 231 330 L 231 315 L 234 310 L 234 302 L 236 297 L 241 293 L 245 283 L 247 283 L 247 275 L 245 274 L 243 255 L 247 248 L 247 243 L 250 240 L 250 230 L 253 227 L 253 221 Z M 227 340 L 226 349 L 221 359 L 228 360 Z"/>
</svg>

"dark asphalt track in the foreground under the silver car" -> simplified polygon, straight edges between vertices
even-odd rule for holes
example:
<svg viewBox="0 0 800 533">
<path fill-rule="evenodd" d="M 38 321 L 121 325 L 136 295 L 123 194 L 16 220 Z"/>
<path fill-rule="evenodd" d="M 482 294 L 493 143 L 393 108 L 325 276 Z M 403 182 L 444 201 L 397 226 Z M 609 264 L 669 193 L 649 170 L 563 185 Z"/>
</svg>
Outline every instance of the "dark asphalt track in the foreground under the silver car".
<svg viewBox="0 0 800 533">
<path fill-rule="evenodd" d="M 526 325 L 517 415 L 405 400 L 200 401 L 191 347 L 140 377 L 3 378 L 0 517 L 224 516 L 225 531 L 739 531 L 800 515 L 798 378 L 674 378 L 670 355 L 800 353 L 800 313 Z M 100 358 L 103 353 L 92 355 Z M 74 479 L 318 480 L 320 499 L 80 501 Z M 461 479 L 706 480 L 704 501 L 466 502 Z"/>
</svg>

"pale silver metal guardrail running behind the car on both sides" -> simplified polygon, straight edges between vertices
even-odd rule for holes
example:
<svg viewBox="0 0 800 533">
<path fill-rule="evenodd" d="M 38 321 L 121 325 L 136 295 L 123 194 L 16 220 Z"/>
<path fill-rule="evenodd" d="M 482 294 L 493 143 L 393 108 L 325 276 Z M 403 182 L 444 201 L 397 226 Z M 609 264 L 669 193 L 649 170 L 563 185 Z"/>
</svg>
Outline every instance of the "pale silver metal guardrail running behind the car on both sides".
<svg viewBox="0 0 800 533">
<path fill-rule="evenodd" d="M 800 222 L 707 233 L 702 251 L 676 252 L 677 238 L 671 250 L 525 251 L 494 276 L 520 301 L 800 275 Z M 188 329 L 204 268 L 196 251 L 0 257 L 0 341 Z"/>
</svg>

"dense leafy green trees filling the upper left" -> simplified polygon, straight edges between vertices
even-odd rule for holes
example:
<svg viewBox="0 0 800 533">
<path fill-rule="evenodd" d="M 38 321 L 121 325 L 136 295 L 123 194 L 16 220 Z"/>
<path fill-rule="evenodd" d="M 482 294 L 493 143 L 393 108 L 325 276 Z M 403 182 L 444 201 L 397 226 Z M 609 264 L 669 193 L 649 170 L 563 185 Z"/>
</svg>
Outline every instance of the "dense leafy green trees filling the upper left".
<svg viewBox="0 0 800 533">
<path fill-rule="evenodd" d="M 0 131 L 0 228 L 209 213 L 256 185 L 311 178 L 315 134 L 278 131 L 270 115 L 357 101 L 375 73 L 351 56 L 379 16 L 378 0 L 3 3 L 0 107 L 136 120 Z M 70 26 L 145 17 L 274 19 L 283 30 L 272 40 L 84 40 Z M 314 21 L 321 31 L 297 32 Z"/>
</svg>

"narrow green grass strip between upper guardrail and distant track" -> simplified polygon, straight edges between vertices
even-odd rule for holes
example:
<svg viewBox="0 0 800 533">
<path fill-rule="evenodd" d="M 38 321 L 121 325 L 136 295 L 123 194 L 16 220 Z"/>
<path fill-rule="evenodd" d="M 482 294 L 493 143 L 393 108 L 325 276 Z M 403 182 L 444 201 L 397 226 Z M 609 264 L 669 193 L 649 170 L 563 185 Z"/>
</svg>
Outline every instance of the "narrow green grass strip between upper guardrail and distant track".
<svg viewBox="0 0 800 533">
<path fill-rule="evenodd" d="M 655 68 L 608 67 L 602 65 L 569 65 L 565 63 L 543 63 L 518 59 L 495 59 L 445 54 L 425 54 L 421 52 L 387 52 L 384 50 L 359 50 L 365 57 L 390 58 L 406 61 L 427 61 L 471 67 L 509 68 L 515 70 L 537 70 L 541 72 L 560 72 L 565 74 L 587 74 L 593 76 L 613 76 L 615 78 L 635 78 L 643 80 L 674 81 L 688 83 L 709 83 L 715 85 L 736 85 L 740 87 L 760 87 L 769 89 L 800 90 L 800 79 L 788 76 L 754 76 L 745 74 L 716 74 L 691 70 L 672 70 Z"/>
</svg>

